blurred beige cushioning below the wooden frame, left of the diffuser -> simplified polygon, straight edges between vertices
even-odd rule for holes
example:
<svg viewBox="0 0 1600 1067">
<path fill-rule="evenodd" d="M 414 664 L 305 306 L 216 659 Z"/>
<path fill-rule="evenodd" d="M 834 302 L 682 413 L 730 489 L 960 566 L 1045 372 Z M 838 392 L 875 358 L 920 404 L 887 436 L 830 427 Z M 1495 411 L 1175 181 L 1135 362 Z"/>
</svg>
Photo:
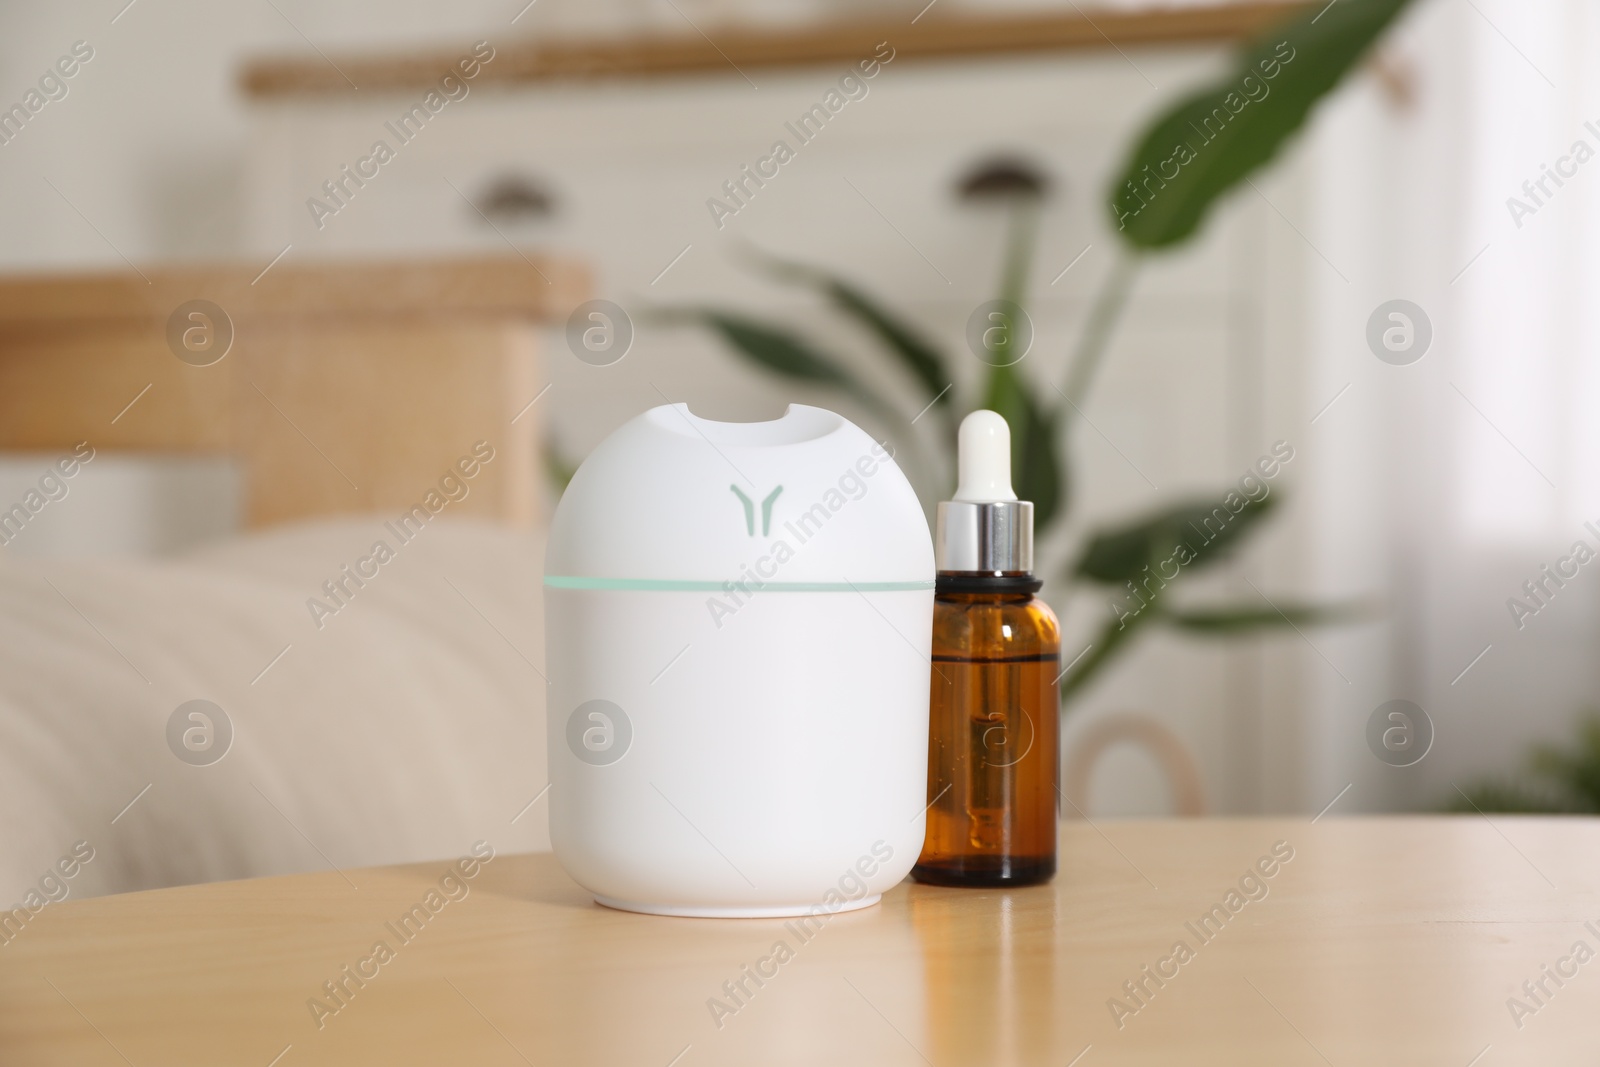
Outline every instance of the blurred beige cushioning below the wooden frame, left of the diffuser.
<svg viewBox="0 0 1600 1067">
<path fill-rule="evenodd" d="M 42 880 L 77 897 L 549 848 L 546 801 L 523 811 L 546 782 L 542 544 L 430 523 L 318 629 L 307 598 L 379 537 L 370 518 L 170 561 L 0 555 L 0 909 Z M 234 725 L 208 766 L 166 741 L 192 699 Z"/>
</svg>

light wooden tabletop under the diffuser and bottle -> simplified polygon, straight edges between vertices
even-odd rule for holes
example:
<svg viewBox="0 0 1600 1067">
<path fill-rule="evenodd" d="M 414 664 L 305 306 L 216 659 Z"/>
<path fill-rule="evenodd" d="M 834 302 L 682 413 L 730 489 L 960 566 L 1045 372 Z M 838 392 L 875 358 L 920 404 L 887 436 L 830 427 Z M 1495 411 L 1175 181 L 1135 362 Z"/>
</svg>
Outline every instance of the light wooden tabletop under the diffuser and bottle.
<svg viewBox="0 0 1600 1067">
<path fill-rule="evenodd" d="M 493 859 L 408 942 L 394 923 L 414 904 L 427 913 L 446 862 L 50 905 L 0 947 L 0 1062 L 1498 1067 L 1600 1054 L 1600 960 L 1570 955 L 1600 950 L 1600 821 L 1074 822 L 1061 845 L 1051 886 L 906 883 L 805 941 L 781 920 L 605 910 L 547 854 Z M 1259 899 L 1229 901 L 1262 857 L 1272 877 L 1243 886 Z M 1200 928 L 1213 904 L 1226 921 Z M 378 941 L 387 961 L 370 957 Z M 374 976 L 357 985 L 346 965 Z M 770 977 L 757 985 L 746 965 Z M 1160 987 L 1146 966 L 1168 974 Z M 1557 985 L 1542 966 L 1574 974 Z M 341 977 L 350 992 L 333 1013 L 323 982 Z M 1123 982 L 1141 981 L 1134 1000 Z M 1530 1008 L 1520 1019 L 1510 997 Z"/>
</svg>

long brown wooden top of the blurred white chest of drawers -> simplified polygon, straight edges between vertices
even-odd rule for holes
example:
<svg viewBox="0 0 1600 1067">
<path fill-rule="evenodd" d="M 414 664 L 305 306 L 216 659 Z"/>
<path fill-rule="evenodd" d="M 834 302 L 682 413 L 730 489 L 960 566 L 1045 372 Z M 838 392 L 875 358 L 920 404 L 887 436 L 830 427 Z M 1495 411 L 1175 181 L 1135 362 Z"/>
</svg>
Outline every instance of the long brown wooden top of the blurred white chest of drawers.
<svg viewBox="0 0 1600 1067">
<path fill-rule="evenodd" d="M 1093 11 L 1066 14 L 939 16 L 910 21 L 834 21 L 784 29 L 706 27 L 698 32 L 538 42 L 494 40 L 494 61 L 480 85 L 544 80 L 643 78 L 674 74 L 734 74 L 768 67 L 853 62 L 878 42 L 896 61 L 994 54 L 1232 42 L 1245 38 L 1302 6 L 1286 0 L 1250 0 L 1197 8 Z M 258 99 L 302 93 L 416 90 L 435 85 L 461 50 L 405 56 L 293 56 L 258 59 L 242 83 Z M 338 64 L 338 66 L 334 66 Z"/>
</svg>

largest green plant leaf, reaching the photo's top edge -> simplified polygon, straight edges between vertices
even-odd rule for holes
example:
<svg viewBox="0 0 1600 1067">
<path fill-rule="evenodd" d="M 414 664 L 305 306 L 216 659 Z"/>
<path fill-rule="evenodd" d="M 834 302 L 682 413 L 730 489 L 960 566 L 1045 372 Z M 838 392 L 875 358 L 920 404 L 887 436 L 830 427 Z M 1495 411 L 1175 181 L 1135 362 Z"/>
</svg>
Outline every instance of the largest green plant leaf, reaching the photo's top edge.
<svg viewBox="0 0 1600 1067">
<path fill-rule="evenodd" d="M 1408 3 L 1304 6 L 1242 48 L 1229 74 L 1150 123 L 1110 187 L 1122 240 L 1166 248 L 1192 235 L 1213 203 L 1277 155 Z"/>
</svg>

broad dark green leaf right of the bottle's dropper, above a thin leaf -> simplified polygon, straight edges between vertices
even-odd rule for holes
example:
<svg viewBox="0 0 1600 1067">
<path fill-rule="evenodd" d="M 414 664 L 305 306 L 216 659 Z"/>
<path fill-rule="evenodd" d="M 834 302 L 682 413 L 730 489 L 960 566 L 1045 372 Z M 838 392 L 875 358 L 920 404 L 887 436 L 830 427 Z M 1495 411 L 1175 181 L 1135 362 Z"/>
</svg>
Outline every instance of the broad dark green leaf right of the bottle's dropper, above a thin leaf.
<svg viewBox="0 0 1600 1067">
<path fill-rule="evenodd" d="M 1189 501 L 1146 515 L 1120 530 L 1094 534 L 1072 568 L 1072 574 L 1093 582 L 1122 585 L 1144 577 L 1144 568 L 1165 581 L 1158 563 L 1174 561 L 1178 573 L 1208 566 L 1227 555 L 1274 507 L 1277 494 L 1258 501 L 1229 491 L 1218 501 Z M 1229 501 L 1240 502 L 1237 510 Z"/>
</svg>

